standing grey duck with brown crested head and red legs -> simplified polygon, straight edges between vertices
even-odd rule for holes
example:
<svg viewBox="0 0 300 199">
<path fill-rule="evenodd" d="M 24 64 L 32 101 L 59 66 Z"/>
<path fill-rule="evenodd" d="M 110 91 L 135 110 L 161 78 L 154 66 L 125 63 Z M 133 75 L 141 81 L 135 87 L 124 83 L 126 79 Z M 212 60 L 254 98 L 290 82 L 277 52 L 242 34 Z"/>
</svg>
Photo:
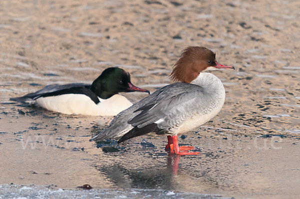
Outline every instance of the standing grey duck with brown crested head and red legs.
<svg viewBox="0 0 300 199">
<path fill-rule="evenodd" d="M 180 81 L 160 88 L 128 109 L 90 141 L 120 138 L 121 143 L 144 134 L 167 135 L 166 151 L 175 155 L 196 155 L 191 146 L 178 146 L 177 135 L 197 128 L 213 118 L 225 99 L 222 82 L 204 71 L 233 68 L 219 64 L 215 53 L 205 47 L 182 50 L 170 79 Z"/>
</svg>

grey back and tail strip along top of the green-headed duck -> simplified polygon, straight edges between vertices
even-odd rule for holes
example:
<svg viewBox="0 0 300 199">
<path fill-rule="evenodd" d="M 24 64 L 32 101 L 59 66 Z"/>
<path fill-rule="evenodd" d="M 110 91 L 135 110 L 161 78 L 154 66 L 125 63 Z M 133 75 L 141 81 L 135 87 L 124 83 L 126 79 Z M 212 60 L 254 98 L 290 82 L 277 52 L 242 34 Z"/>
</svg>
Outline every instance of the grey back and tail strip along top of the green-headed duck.
<svg viewBox="0 0 300 199">
<path fill-rule="evenodd" d="M 90 87 L 90 84 L 82 84 L 82 83 L 72 83 L 72 84 L 64 84 L 64 85 L 48 85 L 45 86 L 44 88 L 34 92 L 34 93 L 28 93 L 22 97 L 13 97 L 10 98 L 11 101 L 16 101 L 16 102 L 26 102 L 26 101 L 32 101 L 35 98 L 44 95 L 46 93 L 62 90 L 62 89 L 69 89 L 72 87 Z"/>
</svg>

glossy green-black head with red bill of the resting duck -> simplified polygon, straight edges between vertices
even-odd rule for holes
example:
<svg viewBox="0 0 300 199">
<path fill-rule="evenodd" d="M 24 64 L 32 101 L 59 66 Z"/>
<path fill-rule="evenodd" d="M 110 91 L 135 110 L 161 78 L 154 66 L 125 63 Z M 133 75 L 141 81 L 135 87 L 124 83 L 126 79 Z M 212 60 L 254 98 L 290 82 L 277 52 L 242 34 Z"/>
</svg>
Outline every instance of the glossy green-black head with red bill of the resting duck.
<svg viewBox="0 0 300 199">
<path fill-rule="evenodd" d="M 119 92 L 147 92 L 148 90 L 134 86 L 130 81 L 130 74 L 121 68 L 106 68 L 91 84 L 91 91 L 101 99 L 107 99 Z"/>
</svg>

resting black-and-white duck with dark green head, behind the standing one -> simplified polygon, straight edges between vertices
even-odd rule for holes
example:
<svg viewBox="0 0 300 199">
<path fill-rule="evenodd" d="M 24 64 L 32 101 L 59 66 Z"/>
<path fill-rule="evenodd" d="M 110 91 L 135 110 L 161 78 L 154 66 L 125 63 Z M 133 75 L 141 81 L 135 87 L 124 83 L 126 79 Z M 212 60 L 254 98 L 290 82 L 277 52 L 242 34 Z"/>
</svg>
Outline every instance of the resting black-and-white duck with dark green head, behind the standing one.
<svg viewBox="0 0 300 199">
<path fill-rule="evenodd" d="M 129 73 L 121 68 L 106 68 L 91 85 L 73 83 L 49 85 L 22 97 L 18 102 L 36 102 L 42 108 L 64 114 L 115 116 L 132 103 L 119 92 L 147 92 L 134 86 Z"/>
</svg>

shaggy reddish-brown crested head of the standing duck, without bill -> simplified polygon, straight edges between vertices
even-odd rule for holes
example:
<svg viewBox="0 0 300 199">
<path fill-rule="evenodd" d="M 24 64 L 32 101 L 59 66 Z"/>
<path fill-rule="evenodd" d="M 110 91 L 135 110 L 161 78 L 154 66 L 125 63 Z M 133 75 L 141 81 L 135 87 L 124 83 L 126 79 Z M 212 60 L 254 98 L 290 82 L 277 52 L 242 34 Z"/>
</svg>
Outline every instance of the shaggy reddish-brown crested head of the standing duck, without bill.
<svg viewBox="0 0 300 199">
<path fill-rule="evenodd" d="M 181 51 L 169 77 L 172 81 L 190 83 L 202 70 L 215 65 L 215 52 L 201 46 L 190 46 Z"/>
</svg>

